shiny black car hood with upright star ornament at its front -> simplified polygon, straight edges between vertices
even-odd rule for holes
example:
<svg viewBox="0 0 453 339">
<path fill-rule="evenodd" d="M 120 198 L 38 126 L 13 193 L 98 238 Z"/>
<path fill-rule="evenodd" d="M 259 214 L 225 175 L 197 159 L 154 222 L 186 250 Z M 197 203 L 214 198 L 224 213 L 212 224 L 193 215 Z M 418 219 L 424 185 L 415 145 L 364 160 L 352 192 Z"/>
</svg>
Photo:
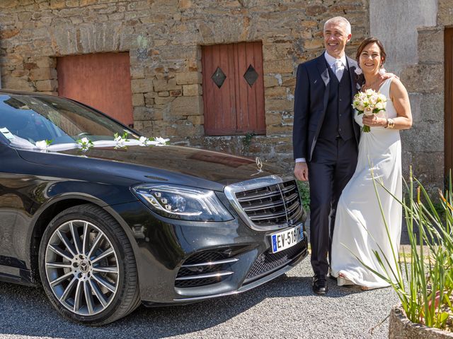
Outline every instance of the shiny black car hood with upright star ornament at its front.
<svg viewBox="0 0 453 339">
<path fill-rule="evenodd" d="M 85 152 L 80 149 L 18 150 L 18 153 L 24 160 L 41 165 L 105 173 L 137 182 L 165 181 L 210 186 L 210 189 L 214 187 L 207 182 L 223 187 L 257 177 L 285 174 L 282 168 L 260 160 L 176 145 L 91 148 Z"/>
</svg>

